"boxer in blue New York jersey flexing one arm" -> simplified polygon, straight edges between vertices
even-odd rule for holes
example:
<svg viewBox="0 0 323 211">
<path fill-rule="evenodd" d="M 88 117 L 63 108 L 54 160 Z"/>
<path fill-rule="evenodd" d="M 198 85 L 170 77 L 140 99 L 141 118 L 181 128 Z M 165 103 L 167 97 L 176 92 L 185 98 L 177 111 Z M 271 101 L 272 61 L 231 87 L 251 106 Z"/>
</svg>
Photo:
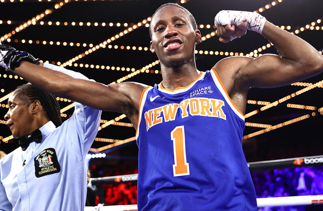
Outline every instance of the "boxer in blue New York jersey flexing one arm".
<svg viewBox="0 0 323 211">
<path fill-rule="evenodd" d="M 221 11 L 215 25 L 220 42 L 248 29 L 273 43 L 279 55 L 228 57 L 200 72 L 194 51 L 201 32 L 185 8 L 169 3 L 150 22 L 150 47 L 162 73 L 154 87 L 73 79 L 34 65 L 31 55 L 4 45 L 1 65 L 48 92 L 127 115 L 137 128 L 139 211 L 255 211 L 242 151 L 248 90 L 317 75 L 323 56 L 256 13 Z"/>
</svg>

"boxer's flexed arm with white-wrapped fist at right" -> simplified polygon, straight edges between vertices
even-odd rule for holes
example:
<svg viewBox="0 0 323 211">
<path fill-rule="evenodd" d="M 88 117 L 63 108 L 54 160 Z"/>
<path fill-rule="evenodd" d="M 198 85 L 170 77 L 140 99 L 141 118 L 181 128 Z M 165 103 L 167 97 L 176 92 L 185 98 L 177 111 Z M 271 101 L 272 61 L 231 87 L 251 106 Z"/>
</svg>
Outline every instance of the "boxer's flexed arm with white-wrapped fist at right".
<svg viewBox="0 0 323 211">
<path fill-rule="evenodd" d="M 262 34 L 277 48 L 279 55 L 265 54 L 256 59 L 230 58 L 230 62 L 241 64 L 236 66 L 236 72 L 246 79 L 248 87 L 287 85 L 320 74 L 323 70 L 323 56 L 312 45 L 257 13 L 221 11 L 215 18 L 215 24 L 218 24 L 217 35 L 221 42 L 230 42 L 249 29 Z M 218 67 L 223 64 L 226 62 L 222 61 Z"/>
</svg>

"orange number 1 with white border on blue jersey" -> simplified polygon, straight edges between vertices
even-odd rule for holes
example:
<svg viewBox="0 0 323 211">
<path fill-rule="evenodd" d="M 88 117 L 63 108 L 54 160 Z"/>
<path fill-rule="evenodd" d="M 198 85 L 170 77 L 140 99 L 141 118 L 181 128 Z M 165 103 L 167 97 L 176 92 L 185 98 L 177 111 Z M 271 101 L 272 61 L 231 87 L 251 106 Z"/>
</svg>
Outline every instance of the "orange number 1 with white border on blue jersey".
<svg viewBox="0 0 323 211">
<path fill-rule="evenodd" d="M 170 133 L 174 145 L 174 176 L 189 175 L 188 163 L 186 163 L 184 126 L 178 126 Z"/>
</svg>

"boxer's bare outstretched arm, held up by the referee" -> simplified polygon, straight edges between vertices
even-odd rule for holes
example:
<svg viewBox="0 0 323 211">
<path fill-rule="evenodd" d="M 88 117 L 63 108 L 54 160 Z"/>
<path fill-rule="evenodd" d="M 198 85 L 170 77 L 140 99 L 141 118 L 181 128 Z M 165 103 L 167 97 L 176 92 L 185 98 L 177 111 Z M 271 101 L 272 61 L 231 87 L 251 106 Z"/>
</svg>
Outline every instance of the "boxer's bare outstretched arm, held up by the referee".
<svg viewBox="0 0 323 211">
<path fill-rule="evenodd" d="M 131 82 L 105 85 L 75 79 L 62 72 L 25 61 L 13 72 L 31 84 L 55 95 L 100 110 L 125 113 L 133 123 L 137 120 L 131 119 L 131 115 L 138 115 L 141 92 L 146 87 L 143 84 Z"/>
</svg>

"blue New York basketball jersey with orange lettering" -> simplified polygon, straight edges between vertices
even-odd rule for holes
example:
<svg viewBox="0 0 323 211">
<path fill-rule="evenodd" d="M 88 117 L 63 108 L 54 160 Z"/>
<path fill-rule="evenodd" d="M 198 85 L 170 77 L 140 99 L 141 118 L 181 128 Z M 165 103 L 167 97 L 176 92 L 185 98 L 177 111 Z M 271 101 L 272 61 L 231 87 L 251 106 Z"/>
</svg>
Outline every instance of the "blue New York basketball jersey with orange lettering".
<svg viewBox="0 0 323 211">
<path fill-rule="evenodd" d="M 147 87 L 137 128 L 139 211 L 256 211 L 243 114 L 212 69 L 187 87 Z"/>
</svg>

